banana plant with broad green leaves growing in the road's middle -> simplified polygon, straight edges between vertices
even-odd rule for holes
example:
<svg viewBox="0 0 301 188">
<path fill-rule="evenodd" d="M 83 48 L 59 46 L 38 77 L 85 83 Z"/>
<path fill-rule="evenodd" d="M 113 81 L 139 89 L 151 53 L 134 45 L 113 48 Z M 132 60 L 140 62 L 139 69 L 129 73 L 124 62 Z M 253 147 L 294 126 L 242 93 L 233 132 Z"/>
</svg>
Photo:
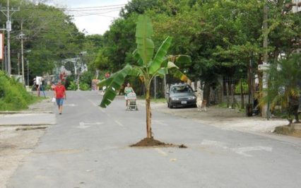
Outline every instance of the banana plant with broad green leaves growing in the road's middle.
<svg viewBox="0 0 301 188">
<path fill-rule="evenodd" d="M 173 76 L 181 79 L 181 81 L 189 81 L 189 78 L 179 71 L 175 65 L 176 61 L 190 62 L 189 56 L 177 55 L 167 56 L 167 50 L 170 48 L 172 38 L 167 37 L 162 43 L 158 52 L 154 55 L 154 43 L 151 40 L 153 35 L 153 25 L 148 16 L 141 15 L 138 17 L 136 25 L 136 44 L 137 48 L 134 55 L 137 57 L 137 65 L 127 64 L 124 69 L 112 74 L 110 78 L 102 80 L 99 83 L 100 87 L 106 86 L 105 95 L 103 95 L 100 107 L 107 107 L 117 95 L 117 90 L 124 83 L 126 76 L 136 76 L 143 80 L 146 86 L 146 132 L 147 138 L 151 139 L 151 81 L 155 76 L 164 76 L 172 74 Z"/>
</svg>

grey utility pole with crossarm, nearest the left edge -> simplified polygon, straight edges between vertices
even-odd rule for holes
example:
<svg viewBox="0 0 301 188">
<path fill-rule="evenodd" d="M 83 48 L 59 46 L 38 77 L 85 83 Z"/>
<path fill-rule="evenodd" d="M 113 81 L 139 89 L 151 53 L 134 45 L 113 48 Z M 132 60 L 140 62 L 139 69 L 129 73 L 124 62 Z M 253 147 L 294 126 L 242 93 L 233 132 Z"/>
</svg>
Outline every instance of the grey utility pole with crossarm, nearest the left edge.
<svg viewBox="0 0 301 188">
<path fill-rule="evenodd" d="M 20 11 L 20 8 L 9 8 L 9 0 L 7 0 L 6 9 L 0 10 L 7 18 L 6 21 L 6 32 L 7 32 L 7 73 L 8 76 L 11 76 L 11 16 L 16 11 Z M 6 13 L 5 13 L 6 12 Z"/>
</svg>

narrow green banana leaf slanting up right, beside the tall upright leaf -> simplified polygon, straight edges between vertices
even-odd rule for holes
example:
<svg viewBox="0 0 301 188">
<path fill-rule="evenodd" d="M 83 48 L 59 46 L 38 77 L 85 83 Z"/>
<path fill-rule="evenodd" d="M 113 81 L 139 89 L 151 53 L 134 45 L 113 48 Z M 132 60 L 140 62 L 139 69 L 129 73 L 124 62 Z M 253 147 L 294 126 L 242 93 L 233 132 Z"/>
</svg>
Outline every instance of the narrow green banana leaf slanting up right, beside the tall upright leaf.
<svg viewBox="0 0 301 188">
<path fill-rule="evenodd" d="M 170 48 L 170 45 L 172 44 L 172 37 L 167 37 L 165 41 L 162 43 L 160 48 L 158 49 L 157 54 L 155 54 L 155 57 L 153 61 L 151 62 L 151 65 L 149 66 L 149 74 L 155 74 L 156 71 L 160 69 L 162 66 L 165 56 L 167 54 L 167 50 Z"/>
</svg>

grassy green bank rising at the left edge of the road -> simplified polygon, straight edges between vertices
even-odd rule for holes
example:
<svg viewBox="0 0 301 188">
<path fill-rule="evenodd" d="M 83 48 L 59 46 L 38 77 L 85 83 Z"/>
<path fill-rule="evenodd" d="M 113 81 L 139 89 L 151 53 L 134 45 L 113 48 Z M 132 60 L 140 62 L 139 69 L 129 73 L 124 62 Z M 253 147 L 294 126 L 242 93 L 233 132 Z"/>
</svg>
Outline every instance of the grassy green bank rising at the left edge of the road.
<svg viewBox="0 0 301 188">
<path fill-rule="evenodd" d="M 0 71 L 0 110 L 26 109 L 34 100 L 21 83 Z"/>
</svg>

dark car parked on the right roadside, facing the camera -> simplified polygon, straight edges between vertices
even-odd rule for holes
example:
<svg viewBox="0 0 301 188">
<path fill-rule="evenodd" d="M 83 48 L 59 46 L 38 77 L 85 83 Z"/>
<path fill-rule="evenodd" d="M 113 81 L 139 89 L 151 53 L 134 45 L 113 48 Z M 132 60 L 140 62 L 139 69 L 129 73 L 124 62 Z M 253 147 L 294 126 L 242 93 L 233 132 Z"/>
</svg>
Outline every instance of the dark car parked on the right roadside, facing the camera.
<svg viewBox="0 0 301 188">
<path fill-rule="evenodd" d="M 167 107 L 196 106 L 196 95 L 191 86 L 186 83 L 177 83 L 167 91 Z"/>
</svg>

